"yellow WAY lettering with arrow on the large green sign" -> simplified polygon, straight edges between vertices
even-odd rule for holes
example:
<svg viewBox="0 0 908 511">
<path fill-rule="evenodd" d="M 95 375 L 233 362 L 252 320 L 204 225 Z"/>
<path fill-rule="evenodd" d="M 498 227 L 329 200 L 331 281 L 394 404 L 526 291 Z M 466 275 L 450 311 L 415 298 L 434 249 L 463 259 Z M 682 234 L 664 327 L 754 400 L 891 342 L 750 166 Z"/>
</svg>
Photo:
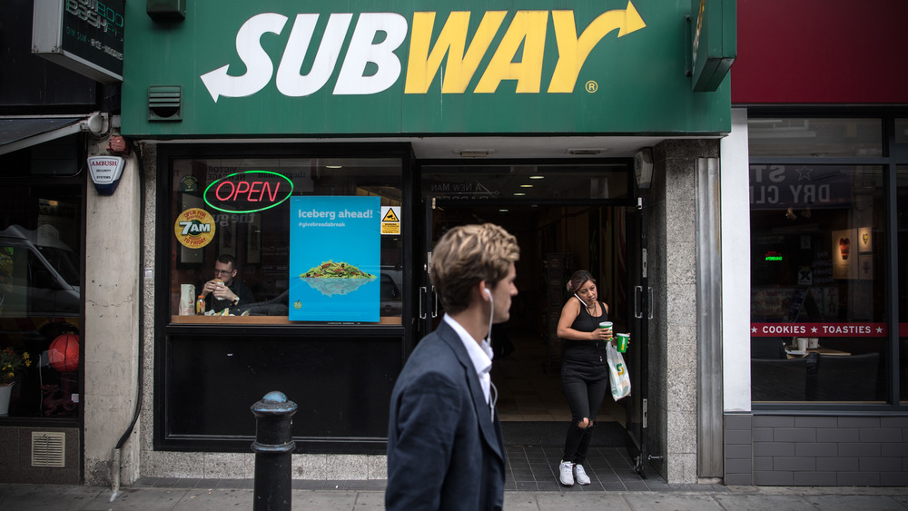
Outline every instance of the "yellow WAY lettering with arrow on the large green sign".
<svg viewBox="0 0 908 511">
<path fill-rule="evenodd" d="M 631 2 L 627 9 L 607 11 L 593 20 L 578 36 L 573 11 L 552 11 L 552 22 L 558 44 L 558 64 L 548 84 L 549 93 L 572 93 L 577 76 L 593 48 L 606 34 L 617 29 L 618 37 L 630 34 L 646 24 Z M 467 47 L 469 12 L 457 11 L 448 16 L 435 45 L 431 45 L 435 13 L 413 14 L 410 56 L 404 93 L 427 93 L 429 85 L 448 55 L 441 74 L 442 93 L 465 93 L 489 45 L 504 21 L 505 11 L 488 11 L 483 15 L 476 34 Z M 542 64 L 548 32 L 548 11 L 518 11 L 508 25 L 492 55 L 474 93 L 494 93 L 502 80 L 516 80 L 517 93 L 538 93 L 542 81 Z M 520 62 L 514 62 L 523 47 Z"/>
</svg>

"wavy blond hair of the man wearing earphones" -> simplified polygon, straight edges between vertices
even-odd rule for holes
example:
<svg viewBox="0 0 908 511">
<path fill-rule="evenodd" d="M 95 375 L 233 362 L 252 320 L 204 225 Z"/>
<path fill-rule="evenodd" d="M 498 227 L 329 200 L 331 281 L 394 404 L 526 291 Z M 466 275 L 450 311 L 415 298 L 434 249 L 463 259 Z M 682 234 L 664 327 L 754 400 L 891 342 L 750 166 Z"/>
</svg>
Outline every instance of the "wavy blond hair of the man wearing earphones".
<svg viewBox="0 0 908 511">
<path fill-rule="evenodd" d="M 520 258 L 517 238 L 494 223 L 460 225 L 445 232 L 432 251 L 430 280 L 449 314 L 469 307 L 469 290 L 480 280 L 492 287 Z"/>
</svg>

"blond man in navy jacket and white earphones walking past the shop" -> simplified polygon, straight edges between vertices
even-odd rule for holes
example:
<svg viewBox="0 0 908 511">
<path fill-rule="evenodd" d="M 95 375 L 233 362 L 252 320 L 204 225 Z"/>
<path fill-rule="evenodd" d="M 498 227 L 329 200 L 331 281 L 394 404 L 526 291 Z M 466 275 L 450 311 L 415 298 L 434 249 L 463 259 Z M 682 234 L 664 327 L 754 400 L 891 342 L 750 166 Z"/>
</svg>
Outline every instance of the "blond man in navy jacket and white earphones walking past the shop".
<svg viewBox="0 0 908 511">
<path fill-rule="evenodd" d="M 389 510 L 501 509 L 505 451 L 491 384 L 493 323 L 517 295 L 517 239 L 490 223 L 451 229 L 430 279 L 446 311 L 419 342 L 391 393 Z"/>
</svg>

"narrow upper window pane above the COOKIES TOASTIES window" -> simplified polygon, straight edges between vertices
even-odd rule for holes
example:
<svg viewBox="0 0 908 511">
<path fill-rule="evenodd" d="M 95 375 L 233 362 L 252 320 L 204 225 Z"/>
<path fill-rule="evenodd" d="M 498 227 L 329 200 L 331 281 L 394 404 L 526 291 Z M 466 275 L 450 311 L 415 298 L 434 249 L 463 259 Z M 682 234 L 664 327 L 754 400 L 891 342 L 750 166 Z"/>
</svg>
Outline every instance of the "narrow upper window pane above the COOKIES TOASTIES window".
<svg viewBox="0 0 908 511">
<path fill-rule="evenodd" d="M 752 118 L 747 121 L 751 157 L 879 157 L 880 119 Z"/>
</svg>

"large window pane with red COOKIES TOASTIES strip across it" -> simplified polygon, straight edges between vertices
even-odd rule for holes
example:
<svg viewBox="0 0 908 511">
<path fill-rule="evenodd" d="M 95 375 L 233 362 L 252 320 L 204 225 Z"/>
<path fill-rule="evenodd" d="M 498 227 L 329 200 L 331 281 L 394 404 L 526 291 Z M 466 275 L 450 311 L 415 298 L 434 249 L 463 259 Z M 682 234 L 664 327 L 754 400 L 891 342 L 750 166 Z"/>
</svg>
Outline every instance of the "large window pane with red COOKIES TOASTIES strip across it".
<svg viewBox="0 0 908 511">
<path fill-rule="evenodd" d="M 752 398 L 881 402 L 883 168 L 751 165 Z"/>
</svg>

